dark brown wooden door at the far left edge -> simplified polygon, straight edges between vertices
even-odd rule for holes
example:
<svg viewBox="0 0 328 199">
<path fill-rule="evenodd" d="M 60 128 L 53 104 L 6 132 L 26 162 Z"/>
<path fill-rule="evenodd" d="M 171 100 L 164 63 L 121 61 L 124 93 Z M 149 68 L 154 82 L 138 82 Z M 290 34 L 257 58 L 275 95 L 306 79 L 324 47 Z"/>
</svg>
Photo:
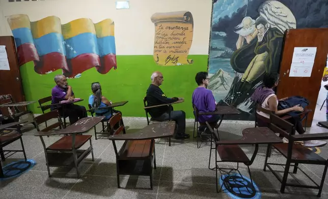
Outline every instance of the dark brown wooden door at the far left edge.
<svg viewBox="0 0 328 199">
<path fill-rule="evenodd" d="M 9 71 L 0 70 L 0 95 L 11 94 L 15 102 L 23 102 L 25 96 L 23 95 L 14 38 L 12 36 L 0 37 L 0 45 L 6 46 L 10 67 Z M 6 109 L 1 109 L 1 111 L 4 115 L 8 114 Z"/>
</svg>

